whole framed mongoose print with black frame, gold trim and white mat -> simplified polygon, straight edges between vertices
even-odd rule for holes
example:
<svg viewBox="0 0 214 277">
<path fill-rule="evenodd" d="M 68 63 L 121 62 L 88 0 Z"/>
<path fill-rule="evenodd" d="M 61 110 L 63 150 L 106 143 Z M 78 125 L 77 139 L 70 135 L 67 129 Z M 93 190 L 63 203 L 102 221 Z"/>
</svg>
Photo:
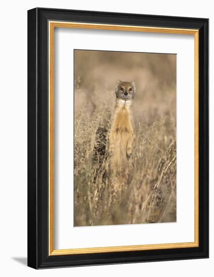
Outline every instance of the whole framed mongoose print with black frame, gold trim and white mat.
<svg viewBox="0 0 214 277">
<path fill-rule="evenodd" d="M 208 19 L 28 11 L 28 266 L 208 257 Z"/>
</svg>

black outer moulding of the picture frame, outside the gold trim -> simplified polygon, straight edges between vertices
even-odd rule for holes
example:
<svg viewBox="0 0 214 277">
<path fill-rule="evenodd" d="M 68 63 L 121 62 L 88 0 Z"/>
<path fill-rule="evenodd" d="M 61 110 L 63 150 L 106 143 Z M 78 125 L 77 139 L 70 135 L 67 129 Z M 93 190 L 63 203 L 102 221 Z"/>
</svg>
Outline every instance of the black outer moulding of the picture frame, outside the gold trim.
<svg viewBox="0 0 214 277">
<path fill-rule="evenodd" d="M 199 30 L 199 247 L 48 253 L 48 21 Z M 52 268 L 208 257 L 208 19 L 35 8 L 28 11 L 28 266 Z"/>
</svg>

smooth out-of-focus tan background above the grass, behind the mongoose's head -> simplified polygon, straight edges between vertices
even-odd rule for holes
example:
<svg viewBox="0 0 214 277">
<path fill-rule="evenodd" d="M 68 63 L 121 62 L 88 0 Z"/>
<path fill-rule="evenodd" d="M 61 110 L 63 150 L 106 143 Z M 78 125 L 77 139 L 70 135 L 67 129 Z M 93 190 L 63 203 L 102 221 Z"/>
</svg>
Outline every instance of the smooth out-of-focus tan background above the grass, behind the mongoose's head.
<svg viewBox="0 0 214 277">
<path fill-rule="evenodd" d="M 151 113 L 176 116 L 176 54 L 75 50 L 75 108 L 115 102 L 118 79 L 134 81 L 134 118 L 152 123 Z M 107 95 L 108 94 L 108 95 Z M 95 99 L 96 98 L 96 99 Z M 143 116 L 143 117 L 142 117 Z"/>
</svg>

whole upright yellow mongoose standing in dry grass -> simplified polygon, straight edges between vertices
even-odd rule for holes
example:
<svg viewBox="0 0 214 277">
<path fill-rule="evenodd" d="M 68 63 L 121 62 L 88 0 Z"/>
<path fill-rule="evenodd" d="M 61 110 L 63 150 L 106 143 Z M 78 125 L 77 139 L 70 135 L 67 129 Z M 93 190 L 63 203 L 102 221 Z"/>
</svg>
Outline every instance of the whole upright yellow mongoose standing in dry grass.
<svg viewBox="0 0 214 277">
<path fill-rule="evenodd" d="M 117 81 L 115 112 L 109 133 L 110 169 L 112 177 L 117 180 L 117 186 L 128 181 L 132 163 L 135 130 L 132 105 L 135 92 L 134 82 Z"/>
</svg>

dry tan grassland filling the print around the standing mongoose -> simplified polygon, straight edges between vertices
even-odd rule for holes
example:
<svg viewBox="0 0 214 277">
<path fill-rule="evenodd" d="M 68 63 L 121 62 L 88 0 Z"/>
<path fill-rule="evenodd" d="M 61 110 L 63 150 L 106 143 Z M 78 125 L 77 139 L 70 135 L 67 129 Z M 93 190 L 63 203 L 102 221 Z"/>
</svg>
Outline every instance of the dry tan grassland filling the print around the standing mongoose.
<svg viewBox="0 0 214 277">
<path fill-rule="evenodd" d="M 75 53 L 75 226 L 176 221 L 176 58 L 123 55 Z M 136 145 L 128 188 L 114 201 L 108 131 L 117 79 L 136 84 Z"/>
</svg>

